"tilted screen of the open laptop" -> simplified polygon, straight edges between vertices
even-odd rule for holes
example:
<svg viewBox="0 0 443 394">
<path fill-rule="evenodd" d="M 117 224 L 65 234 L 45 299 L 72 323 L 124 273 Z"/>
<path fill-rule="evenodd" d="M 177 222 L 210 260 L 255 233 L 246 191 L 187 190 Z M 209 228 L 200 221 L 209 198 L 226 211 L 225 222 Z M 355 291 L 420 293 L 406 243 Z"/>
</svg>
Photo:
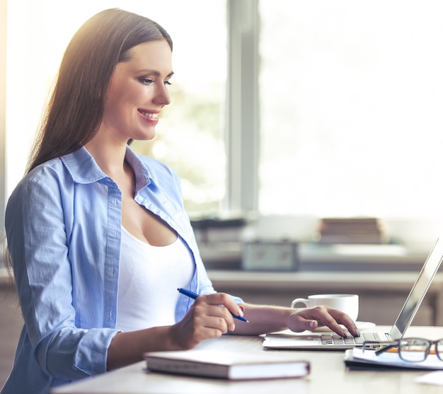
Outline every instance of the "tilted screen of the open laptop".
<svg viewBox="0 0 443 394">
<path fill-rule="evenodd" d="M 432 248 L 430 255 L 427 257 L 427 260 L 425 261 L 425 264 L 423 265 L 422 270 L 398 315 L 396 323 L 391 330 L 391 337 L 393 337 L 393 339 L 397 340 L 401 338 L 410 323 L 412 323 L 415 313 L 417 313 L 418 307 L 425 298 L 427 289 L 429 289 L 432 279 L 437 273 L 442 260 L 443 235 L 437 239 L 434 248 Z"/>
</svg>

